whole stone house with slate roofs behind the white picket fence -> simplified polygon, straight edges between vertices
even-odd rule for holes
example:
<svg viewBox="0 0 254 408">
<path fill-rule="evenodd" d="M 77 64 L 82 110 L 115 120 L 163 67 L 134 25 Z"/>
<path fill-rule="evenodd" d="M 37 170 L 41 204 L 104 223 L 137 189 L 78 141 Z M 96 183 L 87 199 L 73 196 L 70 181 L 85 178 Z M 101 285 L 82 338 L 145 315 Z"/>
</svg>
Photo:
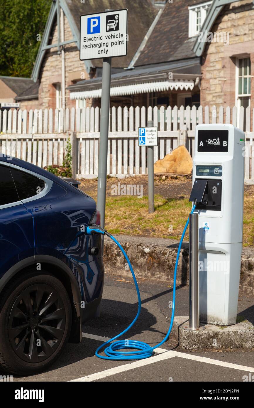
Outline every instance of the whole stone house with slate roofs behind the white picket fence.
<svg viewBox="0 0 254 408">
<path fill-rule="evenodd" d="M 15 100 L 27 109 L 100 106 L 102 60 L 80 61 L 79 21 L 82 14 L 108 7 L 129 10 L 130 35 L 128 55 L 113 58 L 111 106 L 253 108 L 253 3 L 55 0 L 35 61 L 34 83 Z"/>
</svg>

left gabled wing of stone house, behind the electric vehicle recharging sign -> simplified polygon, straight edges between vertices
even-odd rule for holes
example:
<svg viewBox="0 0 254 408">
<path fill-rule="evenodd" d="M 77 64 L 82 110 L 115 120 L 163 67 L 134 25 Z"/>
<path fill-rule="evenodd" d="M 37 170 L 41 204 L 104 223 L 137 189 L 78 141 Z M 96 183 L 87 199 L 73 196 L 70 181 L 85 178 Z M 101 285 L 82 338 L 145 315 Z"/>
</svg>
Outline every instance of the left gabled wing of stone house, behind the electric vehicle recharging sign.
<svg viewBox="0 0 254 408">
<path fill-rule="evenodd" d="M 148 31 L 156 16 L 157 10 L 150 0 L 55 0 L 35 60 L 34 84 L 16 98 L 22 109 L 76 106 L 76 101 L 69 98 L 68 86 L 101 75 L 102 71 L 101 60 L 80 61 L 80 16 L 103 11 L 105 7 L 129 9 L 128 54 L 113 58 L 112 73 L 128 66 L 140 44 L 138 31 Z"/>
</svg>

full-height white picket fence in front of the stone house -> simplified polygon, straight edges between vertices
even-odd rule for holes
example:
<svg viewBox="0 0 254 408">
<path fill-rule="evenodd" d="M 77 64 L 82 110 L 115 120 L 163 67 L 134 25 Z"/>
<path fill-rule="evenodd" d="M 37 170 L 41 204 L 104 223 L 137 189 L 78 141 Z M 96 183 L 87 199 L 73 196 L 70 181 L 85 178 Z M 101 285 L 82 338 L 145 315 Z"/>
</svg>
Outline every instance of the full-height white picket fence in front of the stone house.
<svg viewBox="0 0 254 408">
<path fill-rule="evenodd" d="M 73 145 L 73 173 L 96 177 L 98 173 L 100 109 L 83 108 L 0 111 L 0 153 L 13 155 L 41 167 L 62 164 L 67 137 Z M 252 118 L 252 120 L 251 120 Z M 108 174 L 146 174 L 146 147 L 139 147 L 137 130 L 153 120 L 158 127 L 155 161 L 184 144 L 192 155 L 194 130 L 202 123 L 232 123 L 245 131 L 245 180 L 254 181 L 254 112 L 250 107 L 237 110 L 221 106 L 121 107 L 110 109 Z M 253 148 L 254 155 L 254 148 Z"/>
</svg>

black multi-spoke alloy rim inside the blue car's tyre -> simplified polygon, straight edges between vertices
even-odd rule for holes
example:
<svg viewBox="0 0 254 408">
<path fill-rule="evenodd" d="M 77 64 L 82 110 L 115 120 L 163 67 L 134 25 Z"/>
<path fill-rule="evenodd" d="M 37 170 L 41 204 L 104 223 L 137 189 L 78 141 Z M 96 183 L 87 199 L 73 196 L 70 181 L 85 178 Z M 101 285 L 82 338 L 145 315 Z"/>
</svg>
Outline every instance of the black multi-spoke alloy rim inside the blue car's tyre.
<svg viewBox="0 0 254 408">
<path fill-rule="evenodd" d="M 50 357 L 64 335 L 66 313 L 58 293 L 49 285 L 29 286 L 18 296 L 9 317 L 9 340 L 24 361 Z"/>
</svg>

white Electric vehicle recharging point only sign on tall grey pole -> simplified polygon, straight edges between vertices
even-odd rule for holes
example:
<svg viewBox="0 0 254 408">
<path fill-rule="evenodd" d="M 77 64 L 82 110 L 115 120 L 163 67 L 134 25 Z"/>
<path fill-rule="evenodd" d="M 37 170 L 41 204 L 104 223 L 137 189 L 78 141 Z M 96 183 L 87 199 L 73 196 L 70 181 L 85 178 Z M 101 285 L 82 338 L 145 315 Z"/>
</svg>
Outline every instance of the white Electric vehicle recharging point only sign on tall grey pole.
<svg viewBox="0 0 254 408">
<path fill-rule="evenodd" d="M 80 16 L 80 60 L 127 55 L 128 10 Z"/>
</svg>

